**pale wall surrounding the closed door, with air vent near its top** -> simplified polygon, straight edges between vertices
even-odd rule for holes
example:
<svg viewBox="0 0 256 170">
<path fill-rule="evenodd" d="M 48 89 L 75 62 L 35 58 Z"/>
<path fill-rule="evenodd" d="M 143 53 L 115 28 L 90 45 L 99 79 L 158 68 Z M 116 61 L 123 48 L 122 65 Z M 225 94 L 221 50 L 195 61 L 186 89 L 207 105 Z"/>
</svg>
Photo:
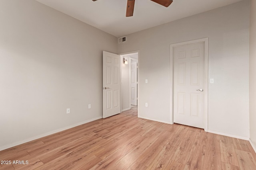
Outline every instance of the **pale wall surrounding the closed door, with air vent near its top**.
<svg viewBox="0 0 256 170">
<path fill-rule="evenodd" d="M 118 44 L 118 53 L 140 50 L 141 117 L 170 120 L 170 44 L 209 37 L 209 78 L 214 84 L 209 84 L 208 129 L 249 137 L 249 2 L 133 33 Z"/>
</svg>

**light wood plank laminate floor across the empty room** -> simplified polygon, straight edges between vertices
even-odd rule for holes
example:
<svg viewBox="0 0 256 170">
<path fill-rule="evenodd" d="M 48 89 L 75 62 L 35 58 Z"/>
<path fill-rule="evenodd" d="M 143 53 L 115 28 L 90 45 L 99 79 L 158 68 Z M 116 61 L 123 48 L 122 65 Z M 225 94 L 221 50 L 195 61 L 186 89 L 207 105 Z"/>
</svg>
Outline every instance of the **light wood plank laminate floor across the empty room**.
<svg viewBox="0 0 256 170">
<path fill-rule="evenodd" d="M 11 161 L 0 170 L 256 170 L 248 141 L 140 119 L 137 107 L 0 151 L 0 160 Z"/>
</svg>

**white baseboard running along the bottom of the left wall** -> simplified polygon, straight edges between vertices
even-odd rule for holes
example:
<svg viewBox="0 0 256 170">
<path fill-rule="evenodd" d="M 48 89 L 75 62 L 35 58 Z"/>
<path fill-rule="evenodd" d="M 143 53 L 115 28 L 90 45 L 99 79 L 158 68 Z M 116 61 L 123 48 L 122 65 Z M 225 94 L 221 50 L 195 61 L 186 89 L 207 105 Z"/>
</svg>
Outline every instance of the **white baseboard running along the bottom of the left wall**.
<svg viewBox="0 0 256 170">
<path fill-rule="evenodd" d="M 94 119 L 90 119 L 90 120 L 86 120 L 86 121 L 82 121 L 82 122 L 79 122 L 79 123 L 76 123 L 74 125 L 70 125 L 70 126 L 67 126 L 67 127 L 63 127 L 63 128 L 60 128 L 60 129 L 57 129 L 57 130 L 54 130 L 54 131 L 50 131 L 48 133 L 44 133 L 44 134 L 41 134 L 41 135 L 37 135 L 35 137 L 31 137 L 29 139 L 26 139 L 26 140 L 23 140 L 23 141 L 18 141 L 16 143 L 12 143 L 10 145 L 6 145 L 6 146 L 2 146 L 0 147 L 0 151 L 1 150 L 5 150 L 5 149 L 8 149 L 8 148 L 11 148 L 11 147 L 15 147 L 17 145 L 21 145 L 21 144 L 24 144 L 24 143 L 27 143 L 27 142 L 30 142 L 30 141 L 34 141 L 36 139 L 39 139 L 39 138 L 42 138 L 42 137 L 46 137 L 48 135 L 52 135 L 54 133 L 58 133 L 58 132 L 61 132 L 61 131 L 64 131 L 64 130 L 67 130 L 67 129 L 70 129 L 70 128 L 73 128 L 73 127 L 76 127 L 76 126 L 79 126 L 79 125 L 82 125 L 82 124 L 85 124 L 85 123 L 89 123 L 91 121 L 95 121 L 95 120 L 98 120 L 98 119 L 101 119 L 102 116 L 100 117 L 96 117 Z"/>
</svg>

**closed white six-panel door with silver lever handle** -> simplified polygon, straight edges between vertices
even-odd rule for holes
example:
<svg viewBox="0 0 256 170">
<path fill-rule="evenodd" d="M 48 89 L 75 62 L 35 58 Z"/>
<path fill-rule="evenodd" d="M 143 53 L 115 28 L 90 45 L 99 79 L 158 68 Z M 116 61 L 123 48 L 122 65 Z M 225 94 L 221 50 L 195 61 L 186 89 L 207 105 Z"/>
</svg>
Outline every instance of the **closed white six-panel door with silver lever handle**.
<svg viewBox="0 0 256 170">
<path fill-rule="evenodd" d="M 174 47 L 174 123 L 204 128 L 204 43 Z"/>
</svg>

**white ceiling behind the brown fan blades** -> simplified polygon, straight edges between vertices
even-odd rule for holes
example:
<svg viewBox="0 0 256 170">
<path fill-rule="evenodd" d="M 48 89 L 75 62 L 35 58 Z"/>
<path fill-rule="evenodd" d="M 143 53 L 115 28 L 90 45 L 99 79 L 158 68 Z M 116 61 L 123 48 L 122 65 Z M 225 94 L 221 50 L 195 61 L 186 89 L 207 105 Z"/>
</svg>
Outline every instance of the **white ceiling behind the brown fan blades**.
<svg viewBox="0 0 256 170">
<path fill-rule="evenodd" d="M 141 31 L 241 0 L 174 0 L 166 8 L 151 0 L 136 0 L 126 17 L 127 0 L 36 0 L 116 37 Z"/>
</svg>

